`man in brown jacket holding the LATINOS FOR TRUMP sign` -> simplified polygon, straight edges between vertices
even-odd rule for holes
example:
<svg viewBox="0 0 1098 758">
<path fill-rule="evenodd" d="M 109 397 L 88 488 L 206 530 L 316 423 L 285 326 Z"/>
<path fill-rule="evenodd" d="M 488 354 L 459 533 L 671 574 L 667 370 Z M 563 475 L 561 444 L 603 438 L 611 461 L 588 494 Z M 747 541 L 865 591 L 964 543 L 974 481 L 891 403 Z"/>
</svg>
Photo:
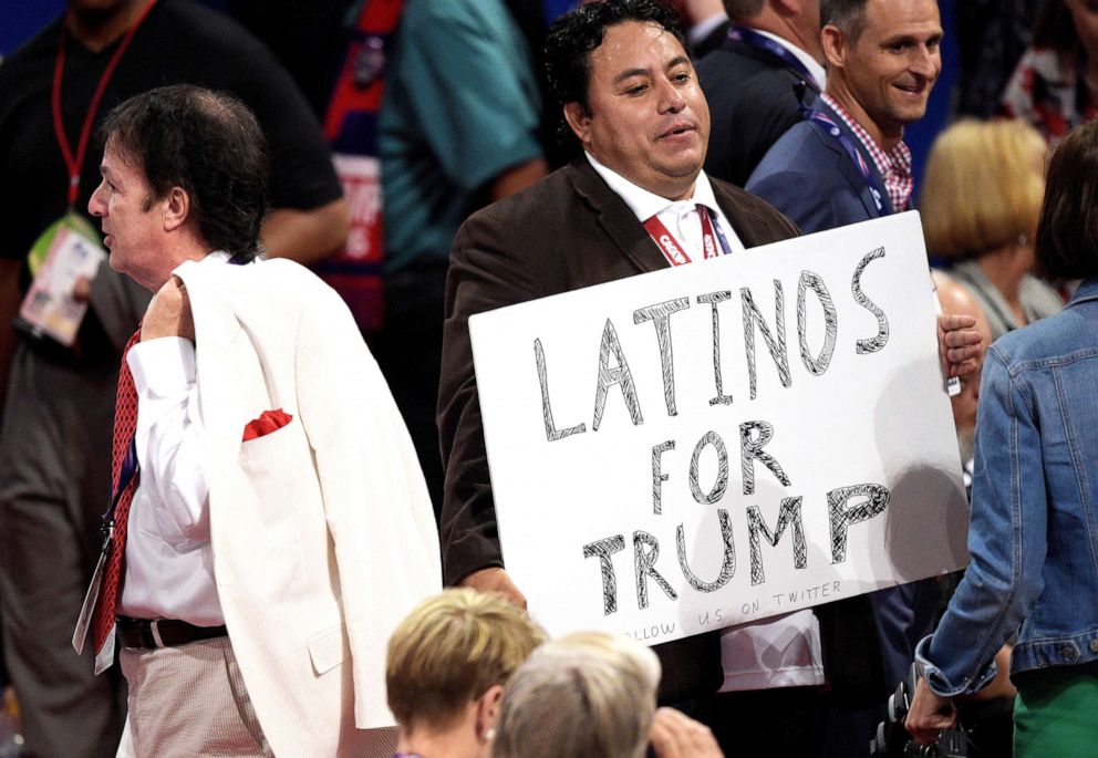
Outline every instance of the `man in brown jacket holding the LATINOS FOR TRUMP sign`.
<svg viewBox="0 0 1098 758">
<path fill-rule="evenodd" d="M 581 7 L 550 33 L 548 66 L 584 155 L 475 214 L 459 231 L 447 284 L 438 411 L 446 470 L 445 579 L 501 591 L 520 604 L 525 598 L 503 569 L 468 318 L 669 264 L 742 256 L 746 248 L 797 233 L 762 200 L 701 170 L 708 107 L 674 17 L 662 6 L 609 0 Z M 961 318 L 942 321 L 951 373 L 975 367 L 978 335 L 967 331 L 971 325 Z M 663 663 L 663 702 L 719 687 L 715 635 L 654 650 Z M 793 728 L 797 715 L 790 710 L 800 707 L 775 703 L 767 709 L 776 726 L 769 730 L 774 755 L 800 755 L 798 749 L 811 745 L 807 730 Z"/>
</svg>

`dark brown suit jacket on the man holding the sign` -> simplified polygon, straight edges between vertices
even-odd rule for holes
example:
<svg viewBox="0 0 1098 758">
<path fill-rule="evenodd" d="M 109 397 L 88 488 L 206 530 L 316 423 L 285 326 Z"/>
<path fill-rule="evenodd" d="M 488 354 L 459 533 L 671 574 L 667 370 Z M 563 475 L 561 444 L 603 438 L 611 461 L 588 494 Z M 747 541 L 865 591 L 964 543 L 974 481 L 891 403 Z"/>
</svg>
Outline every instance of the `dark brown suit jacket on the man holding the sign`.
<svg viewBox="0 0 1098 758">
<path fill-rule="evenodd" d="M 763 200 L 711 179 L 744 246 L 798 235 Z M 446 486 L 441 537 L 447 584 L 503 565 L 488 477 L 468 318 L 504 305 L 666 268 L 629 206 L 580 156 L 529 189 L 469 217 L 454 240 L 446 283 L 446 323 L 438 428 Z M 521 589 L 521 588 L 519 588 Z M 714 692 L 722 681 L 714 634 L 657 645 L 661 699 Z"/>
</svg>

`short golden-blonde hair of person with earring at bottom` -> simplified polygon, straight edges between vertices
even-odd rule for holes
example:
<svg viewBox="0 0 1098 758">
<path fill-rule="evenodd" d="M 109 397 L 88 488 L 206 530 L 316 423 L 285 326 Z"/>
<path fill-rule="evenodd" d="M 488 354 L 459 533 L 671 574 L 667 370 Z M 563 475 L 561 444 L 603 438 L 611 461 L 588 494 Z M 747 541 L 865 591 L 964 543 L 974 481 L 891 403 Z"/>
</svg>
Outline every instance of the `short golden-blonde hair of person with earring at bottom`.
<svg viewBox="0 0 1098 758">
<path fill-rule="evenodd" d="M 416 606 L 389 640 L 389 708 L 405 729 L 448 728 L 545 638 L 501 594 L 444 590 Z"/>
</svg>

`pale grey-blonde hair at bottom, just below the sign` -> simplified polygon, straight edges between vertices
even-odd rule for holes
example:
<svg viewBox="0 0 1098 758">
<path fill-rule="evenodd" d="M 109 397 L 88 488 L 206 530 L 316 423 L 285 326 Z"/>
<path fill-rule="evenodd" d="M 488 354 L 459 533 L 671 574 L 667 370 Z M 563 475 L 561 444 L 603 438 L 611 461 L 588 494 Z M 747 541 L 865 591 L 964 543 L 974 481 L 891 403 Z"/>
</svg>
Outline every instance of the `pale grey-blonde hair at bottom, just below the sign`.
<svg viewBox="0 0 1098 758">
<path fill-rule="evenodd" d="M 660 661 L 624 636 L 548 642 L 504 688 L 491 758 L 641 758 Z"/>
</svg>

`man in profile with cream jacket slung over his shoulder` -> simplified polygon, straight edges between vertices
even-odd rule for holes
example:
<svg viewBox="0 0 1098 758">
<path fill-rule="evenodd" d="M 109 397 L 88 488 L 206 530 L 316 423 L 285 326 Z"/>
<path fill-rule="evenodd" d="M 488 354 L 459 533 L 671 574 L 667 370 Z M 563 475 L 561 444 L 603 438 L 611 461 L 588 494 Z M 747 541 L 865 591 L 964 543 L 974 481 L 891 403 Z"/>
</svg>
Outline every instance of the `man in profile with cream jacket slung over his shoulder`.
<svg viewBox="0 0 1098 758">
<path fill-rule="evenodd" d="M 267 153 L 246 106 L 162 87 L 102 133 L 89 210 L 111 266 L 156 293 L 123 359 L 82 614 L 97 671 L 121 643 L 120 752 L 391 755 L 384 641 L 438 584 L 392 396 L 331 289 L 255 260 Z"/>
</svg>

